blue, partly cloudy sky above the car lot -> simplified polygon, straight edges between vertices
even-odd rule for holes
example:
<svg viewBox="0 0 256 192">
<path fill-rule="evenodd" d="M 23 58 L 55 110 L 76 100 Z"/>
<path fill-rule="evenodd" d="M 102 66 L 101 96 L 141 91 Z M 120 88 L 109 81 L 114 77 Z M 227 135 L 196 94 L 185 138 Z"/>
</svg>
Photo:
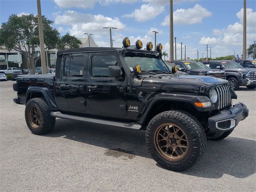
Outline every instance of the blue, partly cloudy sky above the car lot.
<svg viewBox="0 0 256 192">
<path fill-rule="evenodd" d="M 177 59 L 186 57 L 212 58 L 242 54 L 243 0 L 173 0 L 174 37 L 177 39 Z M 247 47 L 256 40 L 256 1 L 247 0 Z M 110 46 L 112 26 L 114 47 L 121 47 L 125 37 L 131 44 L 142 40 L 163 44 L 169 54 L 169 0 L 41 0 L 42 14 L 53 20 L 53 27 L 61 35 L 70 33 L 77 38 L 92 33 L 98 46 Z M 0 0 L 0 23 L 11 14 L 37 14 L 36 0 Z"/>
</svg>

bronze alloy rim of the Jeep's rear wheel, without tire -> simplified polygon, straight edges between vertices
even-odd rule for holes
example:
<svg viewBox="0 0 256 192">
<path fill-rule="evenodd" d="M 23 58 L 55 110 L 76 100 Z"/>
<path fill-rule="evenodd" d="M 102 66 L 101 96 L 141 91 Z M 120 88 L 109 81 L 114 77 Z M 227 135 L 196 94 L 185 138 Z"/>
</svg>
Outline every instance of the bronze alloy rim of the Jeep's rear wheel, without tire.
<svg viewBox="0 0 256 192">
<path fill-rule="evenodd" d="M 42 124 L 42 113 L 36 106 L 31 106 L 28 111 L 28 120 L 30 126 L 34 129 L 38 129 Z"/>
</svg>

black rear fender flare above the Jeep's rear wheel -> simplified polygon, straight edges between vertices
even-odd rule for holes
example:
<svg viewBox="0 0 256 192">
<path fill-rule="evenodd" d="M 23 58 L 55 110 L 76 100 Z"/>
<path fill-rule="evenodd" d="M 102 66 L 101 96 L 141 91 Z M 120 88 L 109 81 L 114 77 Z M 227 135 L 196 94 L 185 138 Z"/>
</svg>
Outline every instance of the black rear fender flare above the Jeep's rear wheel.
<svg viewBox="0 0 256 192">
<path fill-rule="evenodd" d="M 47 87 L 41 87 L 41 86 L 30 86 L 27 89 L 26 92 L 26 102 L 25 104 L 27 104 L 28 100 L 30 100 L 32 93 L 34 92 L 39 92 L 42 93 L 42 95 L 44 96 L 44 99 L 46 101 L 46 103 L 48 104 L 48 106 L 50 107 L 51 111 L 57 111 L 58 107 L 54 101 L 54 98 L 52 96 L 52 93 L 50 92 L 50 90 Z"/>
</svg>

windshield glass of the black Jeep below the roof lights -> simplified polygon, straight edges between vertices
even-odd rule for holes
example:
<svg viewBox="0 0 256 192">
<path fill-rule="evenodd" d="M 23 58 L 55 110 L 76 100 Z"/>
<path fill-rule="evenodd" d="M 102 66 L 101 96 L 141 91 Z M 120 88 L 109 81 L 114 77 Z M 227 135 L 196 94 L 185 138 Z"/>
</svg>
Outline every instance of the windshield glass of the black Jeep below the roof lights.
<svg viewBox="0 0 256 192">
<path fill-rule="evenodd" d="M 168 72 L 168 68 L 158 55 L 155 54 L 143 54 L 143 53 L 126 53 L 124 58 L 130 70 L 133 71 L 135 65 L 140 65 L 140 69 L 143 71 L 161 70 Z M 154 73 L 163 73 L 157 71 Z"/>
</svg>

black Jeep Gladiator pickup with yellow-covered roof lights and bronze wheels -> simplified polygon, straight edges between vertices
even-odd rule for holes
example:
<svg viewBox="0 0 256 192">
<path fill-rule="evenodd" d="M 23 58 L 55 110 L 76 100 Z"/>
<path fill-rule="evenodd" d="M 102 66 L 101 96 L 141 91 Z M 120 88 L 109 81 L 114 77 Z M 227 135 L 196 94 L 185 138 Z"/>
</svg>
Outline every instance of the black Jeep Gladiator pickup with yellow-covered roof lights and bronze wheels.
<svg viewBox="0 0 256 192">
<path fill-rule="evenodd" d="M 57 53 L 56 75 L 21 75 L 13 85 L 14 102 L 25 104 L 33 134 L 54 128 L 55 118 L 146 130 L 146 144 L 156 162 L 185 170 L 204 154 L 206 139 L 226 138 L 248 116 L 232 106 L 236 94 L 227 80 L 179 76 L 156 51 L 128 48 L 77 48 Z M 132 142 L 132 140 L 131 140 Z"/>
</svg>

